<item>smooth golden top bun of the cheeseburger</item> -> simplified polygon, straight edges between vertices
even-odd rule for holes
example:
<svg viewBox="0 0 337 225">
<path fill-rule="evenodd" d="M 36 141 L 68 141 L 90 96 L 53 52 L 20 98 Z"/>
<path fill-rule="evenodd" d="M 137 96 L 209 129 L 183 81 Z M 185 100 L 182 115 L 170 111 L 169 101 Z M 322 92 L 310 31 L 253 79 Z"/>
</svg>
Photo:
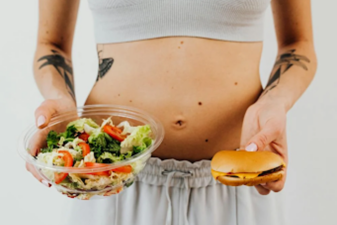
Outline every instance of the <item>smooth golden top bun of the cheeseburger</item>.
<svg viewBox="0 0 337 225">
<path fill-rule="evenodd" d="M 223 173 L 259 173 L 282 165 L 283 159 L 269 151 L 220 151 L 211 161 L 212 170 Z"/>
</svg>

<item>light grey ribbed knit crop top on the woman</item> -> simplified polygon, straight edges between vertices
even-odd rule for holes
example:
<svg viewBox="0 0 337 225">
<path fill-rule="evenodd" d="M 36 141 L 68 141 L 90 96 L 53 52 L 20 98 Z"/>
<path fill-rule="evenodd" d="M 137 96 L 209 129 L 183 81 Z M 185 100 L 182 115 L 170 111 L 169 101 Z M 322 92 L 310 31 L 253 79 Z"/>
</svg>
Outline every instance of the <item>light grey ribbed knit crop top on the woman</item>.
<svg viewBox="0 0 337 225">
<path fill-rule="evenodd" d="M 263 40 L 270 0 L 88 0 L 97 43 L 165 36 Z"/>
</svg>

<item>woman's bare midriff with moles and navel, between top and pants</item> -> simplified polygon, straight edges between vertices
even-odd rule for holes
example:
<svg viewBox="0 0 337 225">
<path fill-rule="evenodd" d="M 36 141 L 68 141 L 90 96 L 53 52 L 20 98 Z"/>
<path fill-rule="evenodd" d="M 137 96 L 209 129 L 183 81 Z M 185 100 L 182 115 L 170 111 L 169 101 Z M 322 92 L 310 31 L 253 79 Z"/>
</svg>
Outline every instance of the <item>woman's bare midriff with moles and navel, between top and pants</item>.
<svg viewBox="0 0 337 225">
<path fill-rule="evenodd" d="M 133 106 L 158 118 L 165 137 L 152 156 L 194 162 L 240 146 L 245 111 L 262 92 L 262 42 L 169 37 L 98 51 L 114 62 L 86 104 Z"/>
</svg>

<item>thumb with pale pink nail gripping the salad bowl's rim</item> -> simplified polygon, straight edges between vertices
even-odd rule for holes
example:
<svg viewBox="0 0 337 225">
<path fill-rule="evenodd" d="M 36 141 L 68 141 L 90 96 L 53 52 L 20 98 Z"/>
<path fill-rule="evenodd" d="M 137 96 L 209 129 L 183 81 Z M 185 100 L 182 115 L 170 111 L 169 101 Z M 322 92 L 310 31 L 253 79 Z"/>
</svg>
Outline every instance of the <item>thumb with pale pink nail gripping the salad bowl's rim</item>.
<svg viewBox="0 0 337 225">
<path fill-rule="evenodd" d="M 53 114 L 57 111 L 56 102 L 53 99 L 48 99 L 35 110 L 35 121 L 38 128 L 43 128 L 48 125 Z"/>
</svg>

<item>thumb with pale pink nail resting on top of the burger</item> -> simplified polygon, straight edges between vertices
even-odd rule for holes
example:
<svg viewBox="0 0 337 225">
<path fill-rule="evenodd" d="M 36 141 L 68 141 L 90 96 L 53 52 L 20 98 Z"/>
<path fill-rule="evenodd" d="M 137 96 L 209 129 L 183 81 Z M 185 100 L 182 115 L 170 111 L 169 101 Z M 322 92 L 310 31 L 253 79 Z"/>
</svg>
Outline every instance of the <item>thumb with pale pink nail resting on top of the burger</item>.
<svg viewBox="0 0 337 225">
<path fill-rule="evenodd" d="M 267 121 L 255 136 L 246 145 L 247 151 L 264 150 L 267 145 L 275 141 L 281 134 L 280 127 L 273 121 Z"/>
</svg>

